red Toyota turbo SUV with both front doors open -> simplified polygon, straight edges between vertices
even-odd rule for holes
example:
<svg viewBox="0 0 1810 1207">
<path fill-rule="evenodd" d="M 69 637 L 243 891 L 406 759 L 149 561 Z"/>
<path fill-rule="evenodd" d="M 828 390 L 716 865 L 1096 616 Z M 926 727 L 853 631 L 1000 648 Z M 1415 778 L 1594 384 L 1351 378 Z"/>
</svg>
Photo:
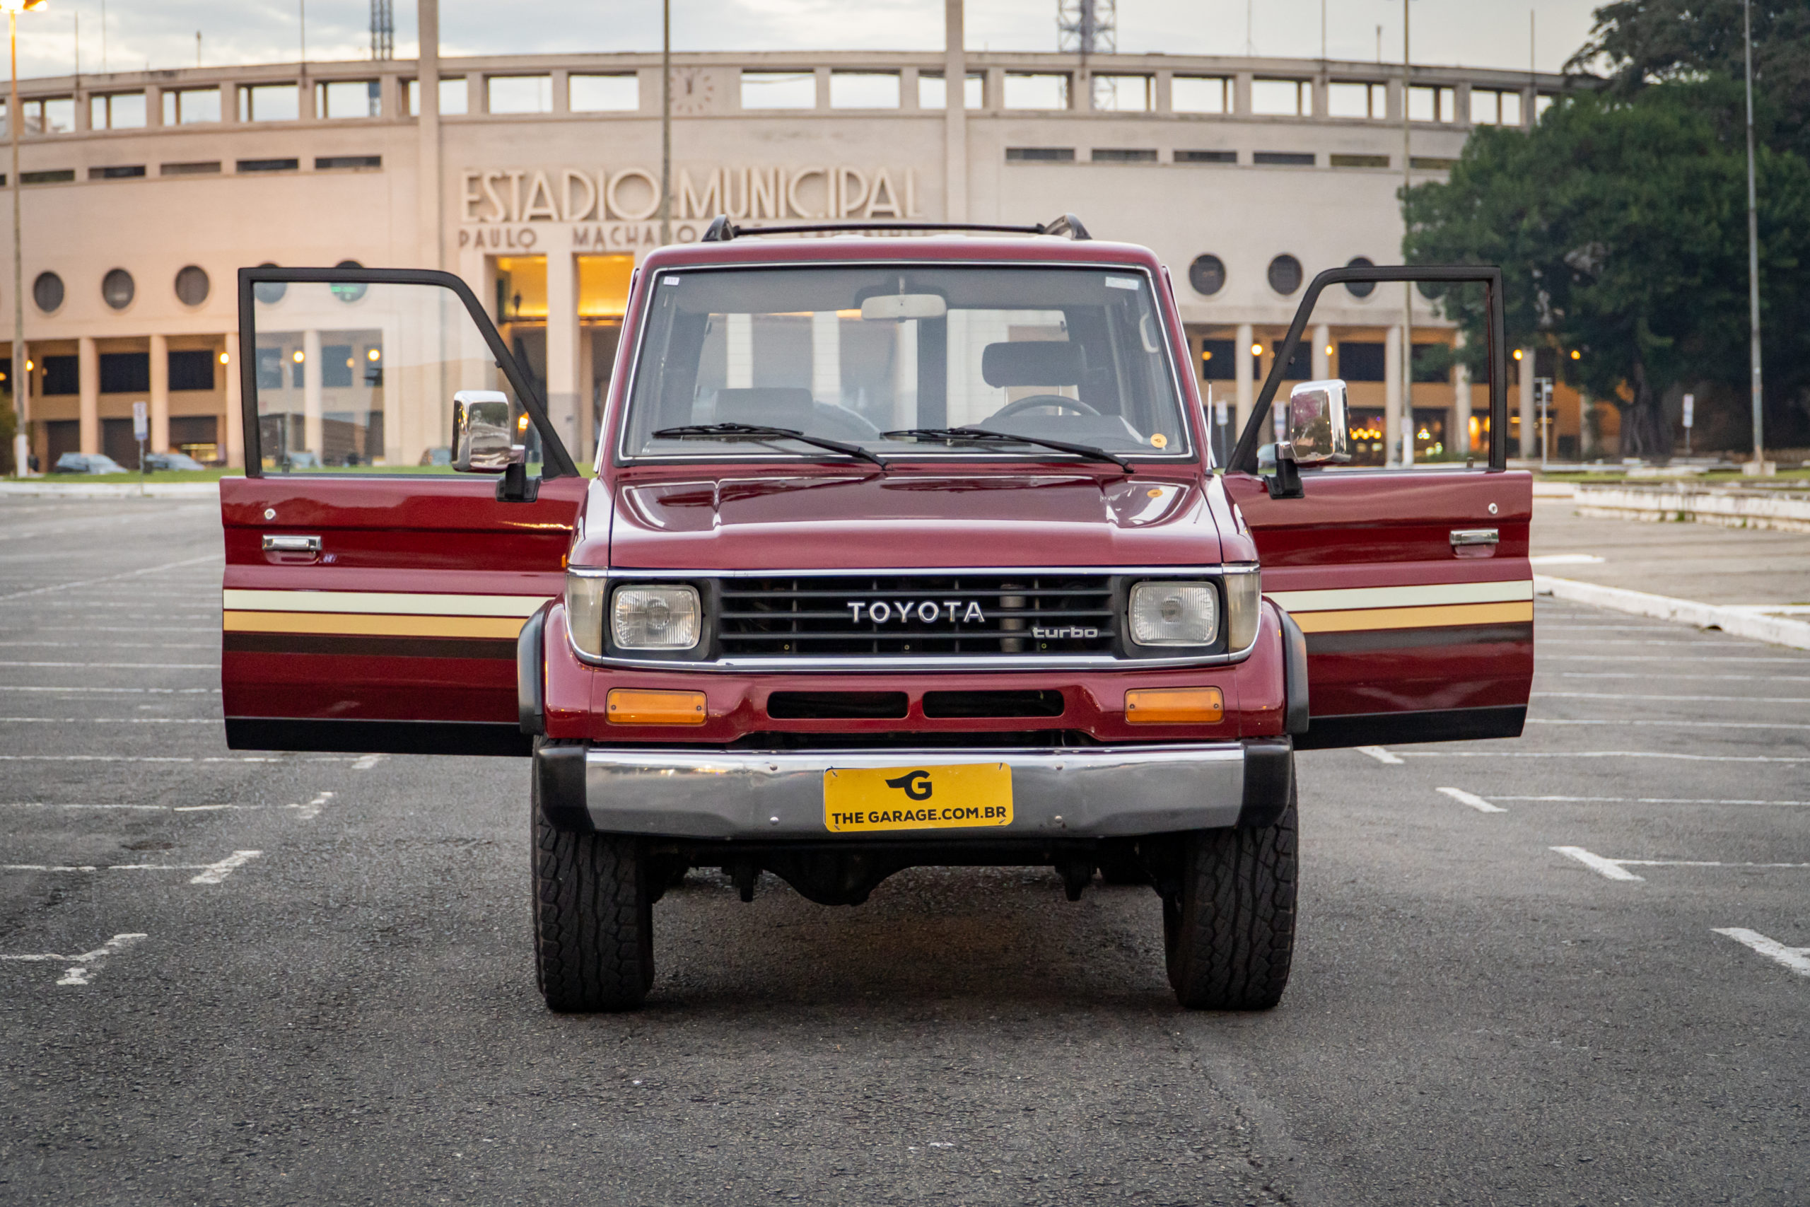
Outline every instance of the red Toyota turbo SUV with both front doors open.
<svg viewBox="0 0 1810 1207">
<path fill-rule="evenodd" d="M 1294 751 L 1520 733 L 1499 271 L 1321 273 L 1216 467 L 1151 252 L 1072 217 L 787 237 L 822 233 L 652 252 L 595 411 L 548 409 L 550 333 L 505 342 L 454 275 L 243 270 L 230 744 L 532 756 L 554 1010 L 644 999 L 688 869 L 860 905 L 916 865 L 1149 885 L 1182 1004 L 1272 1006 Z M 1260 447 L 1352 280 L 1481 286 L 1486 467 L 1348 465 L 1338 380 Z"/>
</svg>

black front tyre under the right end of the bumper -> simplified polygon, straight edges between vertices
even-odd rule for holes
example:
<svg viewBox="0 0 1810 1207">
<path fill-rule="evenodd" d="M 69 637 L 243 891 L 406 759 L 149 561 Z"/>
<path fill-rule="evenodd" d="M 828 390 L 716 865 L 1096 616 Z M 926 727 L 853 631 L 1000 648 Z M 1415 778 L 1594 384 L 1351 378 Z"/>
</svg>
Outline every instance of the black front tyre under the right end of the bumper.
<svg viewBox="0 0 1810 1207">
<path fill-rule="evenodd" d="M 1262 829 L 1195 831 L 1182 889 L 1162 899 L 1175 999 L 1191 1010 L 1269 1010 L 1294 955 L 1296 802 Z"/>
</svg>

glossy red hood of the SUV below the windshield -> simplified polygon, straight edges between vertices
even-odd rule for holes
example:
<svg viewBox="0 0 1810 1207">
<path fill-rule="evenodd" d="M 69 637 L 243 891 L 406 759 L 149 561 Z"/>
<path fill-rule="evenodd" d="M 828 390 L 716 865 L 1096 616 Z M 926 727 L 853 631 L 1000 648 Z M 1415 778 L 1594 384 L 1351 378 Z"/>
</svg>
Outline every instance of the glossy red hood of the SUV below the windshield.
<svg viewBox="0 0 1810 1207">
<path fill-rule="evenodd" d="M 1198 483 L 1090 474 L 726 476 L 624 483 L 632 570 L 1211 565 Z"/>
</svg>

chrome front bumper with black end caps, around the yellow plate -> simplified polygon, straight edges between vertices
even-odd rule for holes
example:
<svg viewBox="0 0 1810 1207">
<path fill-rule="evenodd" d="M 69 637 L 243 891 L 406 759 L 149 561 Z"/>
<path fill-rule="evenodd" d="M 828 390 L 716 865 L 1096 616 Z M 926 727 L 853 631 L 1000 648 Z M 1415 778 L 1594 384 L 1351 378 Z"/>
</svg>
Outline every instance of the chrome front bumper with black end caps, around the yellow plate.
<svg viewBox="0 0 1810 1207">
<path fill-rule="evenodd" d="M 1128 838 L 1267 825 L 1287 803 L 1287 738 L 1077 749 L 688 751 L 543 746 L 541 809 L 559 829 L 702 840 Z M 1006 827 L 831 834 L 824 773 L 836 767 L 1006 764 Z"/>
</svg>

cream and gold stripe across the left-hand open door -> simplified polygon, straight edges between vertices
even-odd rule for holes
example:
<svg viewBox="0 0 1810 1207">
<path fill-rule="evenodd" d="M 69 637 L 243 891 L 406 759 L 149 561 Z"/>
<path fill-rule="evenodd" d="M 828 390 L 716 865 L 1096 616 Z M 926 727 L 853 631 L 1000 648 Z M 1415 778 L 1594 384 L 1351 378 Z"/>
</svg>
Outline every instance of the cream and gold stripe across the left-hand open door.
<svg viewBox="0 0 1810 1207">
<path fill-rule="evenodd" d="M 228 633 L 489 637 L 514 641 L 547 595 L 427 592 L 221 592 Z"/>
</svg>

